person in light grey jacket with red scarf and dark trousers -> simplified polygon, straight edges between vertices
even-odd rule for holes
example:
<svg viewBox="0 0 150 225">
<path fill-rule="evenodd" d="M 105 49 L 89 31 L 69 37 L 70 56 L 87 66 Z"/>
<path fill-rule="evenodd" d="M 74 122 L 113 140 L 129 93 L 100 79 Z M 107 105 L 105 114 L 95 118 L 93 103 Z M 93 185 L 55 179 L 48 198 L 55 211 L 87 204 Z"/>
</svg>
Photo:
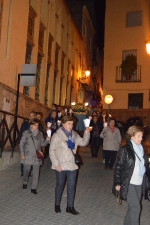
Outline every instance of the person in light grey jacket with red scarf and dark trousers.
<svg viewBox="0 0 150 225">
<path fill-rule="evenodd" d="M 103 150 L 105 155 L 105 169 L 113 170 L 116 160 L 117 151 L 121 143 L 121 134 L 118 128 L 115 127 L 115 120 L 109 119 L 108 126 L 104 127 L 100 137 L 103 138 Z"/>
</svg>

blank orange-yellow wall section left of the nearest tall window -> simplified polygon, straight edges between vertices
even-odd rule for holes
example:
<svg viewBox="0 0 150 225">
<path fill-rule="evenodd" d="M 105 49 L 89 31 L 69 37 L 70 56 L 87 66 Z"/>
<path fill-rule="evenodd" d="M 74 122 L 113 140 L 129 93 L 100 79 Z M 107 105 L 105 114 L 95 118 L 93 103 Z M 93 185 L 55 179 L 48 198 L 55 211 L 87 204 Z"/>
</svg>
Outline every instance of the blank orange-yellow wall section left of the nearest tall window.
<svg viewBox="0 0 150 225">
<path fill-rule="evenodd" d="M 0 82 L 16 89 L 25 61 L 28 1 L 5 0 L 0 40 Z M 16 13 L 17 12 L 17 13 Z"/>
</svg>

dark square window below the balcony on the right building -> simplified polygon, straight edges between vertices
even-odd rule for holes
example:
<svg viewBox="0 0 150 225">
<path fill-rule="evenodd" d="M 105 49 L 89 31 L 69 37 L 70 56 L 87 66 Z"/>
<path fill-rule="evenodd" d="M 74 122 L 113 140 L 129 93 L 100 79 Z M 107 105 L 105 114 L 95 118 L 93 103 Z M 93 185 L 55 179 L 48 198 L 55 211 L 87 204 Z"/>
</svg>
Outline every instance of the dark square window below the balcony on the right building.
<svg viewBox="0 0 150 225">
<path fill-rule="evenodd" d="M 143 93 L 128 94 L 128 109 L 143 109 Z"/>
</svg>

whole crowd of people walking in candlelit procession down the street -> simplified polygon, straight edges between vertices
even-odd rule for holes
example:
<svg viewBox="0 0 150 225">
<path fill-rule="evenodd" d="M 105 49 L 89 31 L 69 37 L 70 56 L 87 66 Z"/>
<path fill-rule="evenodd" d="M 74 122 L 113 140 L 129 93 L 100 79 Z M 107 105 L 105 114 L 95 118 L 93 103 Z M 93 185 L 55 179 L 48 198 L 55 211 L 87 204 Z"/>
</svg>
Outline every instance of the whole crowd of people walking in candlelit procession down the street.
<svg viewBox="0 0 150 225">
<path fill-rule="evenodd" d="M 61 213 L 61 196 L 67 181 L 66 212 L 79 214 L 74 208 L 79 169 L 74 156 L 78 146 L 90 143 L 91 157 L 97 158 L 101 149 L 105 161 L 104 169 L 114 170 L 112 192 L 115 195 L 120 192 L 120 198 L 128 203 L 124 225 L 139 225 L 143 180 L 145 176 L 150 179 L 148 159 L 141 144 L 143 129 L 131 126 L 127 131 L 126 145 L 120 147 L 120 131 L 115 127 L 115 119 L 107 115 L 106 110 L 94 110 L 89 119 L 90 125 L 85 128 L 83 137 L 80 137 L 75 130 L 76 118 L 71 107 L 53 104 L 44 122 L 41 112 L 29 113 L 29 120 L 21 125 L 18 137 L 22 187 L 27 189 L 28 179 L 33 171 L 31 193 L 37 194 L 40 166 L 43 158 L 49 155 L 56 174 L 55 212 Z M 47 131 L 50 131 L 50 135 Z"/>
</svg>

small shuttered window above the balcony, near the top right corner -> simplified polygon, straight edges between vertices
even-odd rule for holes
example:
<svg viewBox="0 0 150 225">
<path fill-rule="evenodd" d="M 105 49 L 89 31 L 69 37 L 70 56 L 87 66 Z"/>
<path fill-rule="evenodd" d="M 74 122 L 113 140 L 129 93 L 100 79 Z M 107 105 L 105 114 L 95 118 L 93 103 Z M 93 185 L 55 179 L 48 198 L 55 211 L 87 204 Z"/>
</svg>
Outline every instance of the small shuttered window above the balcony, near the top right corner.
<svg viewBox="0 0 150 225">
<path fill-rule="evenodd" d="M 127 13 L 127 27 L 142 26 L 142 11 Z"/>
</svg>

